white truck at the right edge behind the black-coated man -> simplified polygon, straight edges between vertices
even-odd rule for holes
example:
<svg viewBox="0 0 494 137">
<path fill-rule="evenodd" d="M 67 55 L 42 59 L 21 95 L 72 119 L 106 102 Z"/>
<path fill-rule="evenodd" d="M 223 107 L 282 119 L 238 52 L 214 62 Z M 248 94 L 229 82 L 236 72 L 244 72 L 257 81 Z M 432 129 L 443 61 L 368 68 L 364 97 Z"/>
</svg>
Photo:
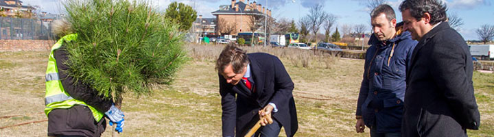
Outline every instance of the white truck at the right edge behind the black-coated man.
<svg viewBox="0 0 494 137">
<path fill-rule="evenodd" d="M 470 53 L 480 60 L 494 60 L 494 45 L 469 45 Z"/>
</svg>

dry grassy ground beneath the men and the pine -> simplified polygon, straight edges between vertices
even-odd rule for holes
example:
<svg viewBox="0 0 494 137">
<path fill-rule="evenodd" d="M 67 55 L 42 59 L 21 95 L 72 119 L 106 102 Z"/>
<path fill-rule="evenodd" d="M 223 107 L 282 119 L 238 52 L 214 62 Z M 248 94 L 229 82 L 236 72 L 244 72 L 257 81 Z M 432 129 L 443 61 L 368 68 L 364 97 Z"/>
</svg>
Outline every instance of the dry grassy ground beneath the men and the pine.
<svg viewBox="0 0 494 137">
<path fill-rule="evenodd" d="M 0 128 L 5 127 L 0 136 L 47 136 L 43 98 L 48 54 L 0 52 Z M 156 87 L 148 96 L 126 95 L 122 106 L 126 125 L 120 136 L 221 136 L 217 73 L 206 55 L 215 53 L 202 54 L 204 60 L 192 58 L 171 86 Z M 296 136 L 368 136 L 368 129 L 357 134 L 354 127 L 363 60 L 333 58 L 329 69 L 315 59 L 309 68 L 289 57 L 281 60 L 295 83 Z M 494 74 L 475 72 L 473 81 L 482 120 L 480 130 L 469 131 L 469 136 L 494 136 Z M 6 127 L 19 123 L 28 124 Z M 109 128 L 103 136 L 110 136 Z"/>
</svg>

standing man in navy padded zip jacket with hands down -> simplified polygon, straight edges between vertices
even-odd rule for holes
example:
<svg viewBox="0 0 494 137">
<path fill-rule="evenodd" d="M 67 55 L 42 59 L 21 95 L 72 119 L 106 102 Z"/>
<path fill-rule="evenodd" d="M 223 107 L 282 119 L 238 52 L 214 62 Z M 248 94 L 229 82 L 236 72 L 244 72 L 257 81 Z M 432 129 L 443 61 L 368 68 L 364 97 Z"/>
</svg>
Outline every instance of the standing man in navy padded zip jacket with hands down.
<svg viewBox="0 0 494 137">
<path fill-rule="evenodd" d="M 410 32 L 401 32 L 395 10 L 379 5 L 371 12 L 371 36 L 364 65 L 364 79 L 357 102 L 357 132 L 364 125 L 371 136 L 401 136 L 405 72 L 416 45 Z"/>
</svg>

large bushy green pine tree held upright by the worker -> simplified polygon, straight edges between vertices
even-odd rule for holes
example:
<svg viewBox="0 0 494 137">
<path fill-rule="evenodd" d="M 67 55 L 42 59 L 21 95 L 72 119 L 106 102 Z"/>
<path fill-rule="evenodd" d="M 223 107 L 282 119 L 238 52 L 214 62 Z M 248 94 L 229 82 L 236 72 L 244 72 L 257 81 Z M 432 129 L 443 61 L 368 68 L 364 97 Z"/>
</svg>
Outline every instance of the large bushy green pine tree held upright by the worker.
<svg viewBox="0 0 494 137">
<path fill-rule="evenodd" d="M 183 33 L 143 1 L 69 0 L 64 3 L 75 42 L 67 43 L 69 75 L 113 98 L 149 94 L 170 84 L 187 57 Z"/>
</svg>

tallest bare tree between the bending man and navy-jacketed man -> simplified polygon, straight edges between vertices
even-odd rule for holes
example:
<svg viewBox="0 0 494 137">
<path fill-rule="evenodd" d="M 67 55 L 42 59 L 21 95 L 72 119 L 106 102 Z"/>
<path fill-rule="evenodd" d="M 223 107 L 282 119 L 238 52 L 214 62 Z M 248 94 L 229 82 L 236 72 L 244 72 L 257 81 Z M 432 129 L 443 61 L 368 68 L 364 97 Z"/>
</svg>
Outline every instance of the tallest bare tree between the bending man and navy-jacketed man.
<svg viewBox="0 0 494 137">
<path fill-rule="evenodd" d="M 314 38 L 316 38 L 316 42 L 317 42 L 317 34 L 319 32 L 319 29 L 322 23 L 324 23 L 327 18 L 327 13 L 324 11 L 324 5 L 319 3 L 312 6 L 311 9 L 309 10 L 309 14 L 307 15 L 307 18 L 309 18 L 310 21 L 309 28 L 311 32 L 314 34 Z"/>
</svg>

